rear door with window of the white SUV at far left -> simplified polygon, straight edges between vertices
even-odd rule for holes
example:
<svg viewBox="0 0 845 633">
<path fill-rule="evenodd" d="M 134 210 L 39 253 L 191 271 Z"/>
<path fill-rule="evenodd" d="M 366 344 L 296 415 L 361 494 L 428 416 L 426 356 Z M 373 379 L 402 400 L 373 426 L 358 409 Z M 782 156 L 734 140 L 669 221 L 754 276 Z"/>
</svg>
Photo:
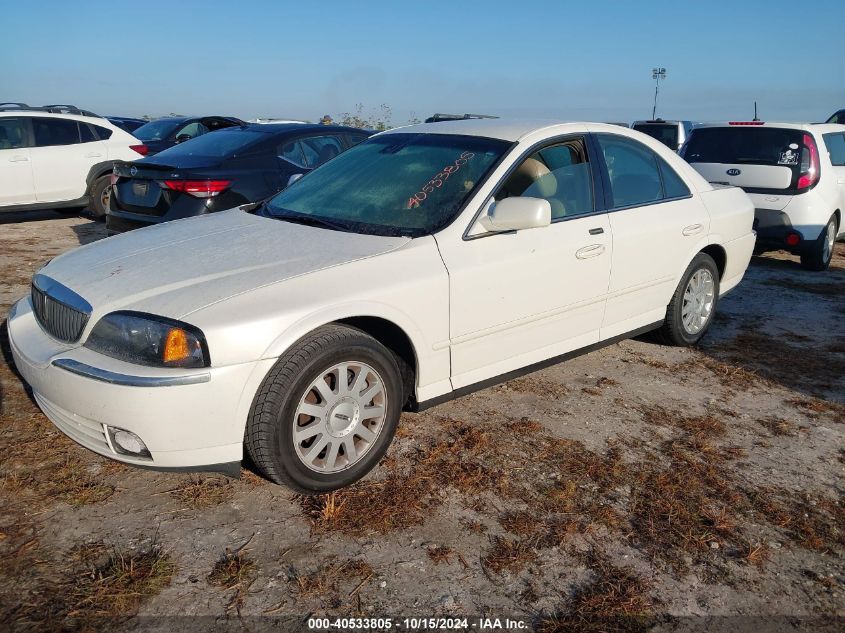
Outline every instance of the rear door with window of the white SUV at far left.
<svg viewBox="0 0 845 633">
<path fill-rule="evenodd" d="M 36 199 L 61 202 L 82 198 L 91 166 L 107 158 L 104 142 L 87 123 L 74 119 L 32 117 L 32 131 Z"/>
</svg>

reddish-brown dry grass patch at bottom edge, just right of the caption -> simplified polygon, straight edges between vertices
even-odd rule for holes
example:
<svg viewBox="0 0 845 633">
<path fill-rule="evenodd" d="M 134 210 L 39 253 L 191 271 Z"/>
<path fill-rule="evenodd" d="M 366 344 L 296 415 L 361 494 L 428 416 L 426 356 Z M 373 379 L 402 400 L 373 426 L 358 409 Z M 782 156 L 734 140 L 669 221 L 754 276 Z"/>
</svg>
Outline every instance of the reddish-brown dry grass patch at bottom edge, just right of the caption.
<svg viewBox="0 0 845 633">
<path fill-rule="evenodd" d="M 588 555 L 593 578 L 575 590 L 566 611 L 542 617 L 540 633 L 585 631 L 634 633 L 653 625 L 651 584 L 630 569 L 617 567 L 595 551 Z"/>
</svg>

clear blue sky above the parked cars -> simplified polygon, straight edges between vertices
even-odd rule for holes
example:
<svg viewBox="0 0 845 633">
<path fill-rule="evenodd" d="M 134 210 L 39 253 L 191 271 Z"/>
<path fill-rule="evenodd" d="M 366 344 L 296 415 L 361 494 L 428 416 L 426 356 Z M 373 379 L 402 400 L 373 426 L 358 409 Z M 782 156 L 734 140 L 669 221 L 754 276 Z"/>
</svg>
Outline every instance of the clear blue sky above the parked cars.
<svg viewBox="0 0 845 633">
<path fill-rule="evenodd" d="M 821 120 L 840 2 L 12 2 L 0 99 L 103 114 Z"/>
</svg>

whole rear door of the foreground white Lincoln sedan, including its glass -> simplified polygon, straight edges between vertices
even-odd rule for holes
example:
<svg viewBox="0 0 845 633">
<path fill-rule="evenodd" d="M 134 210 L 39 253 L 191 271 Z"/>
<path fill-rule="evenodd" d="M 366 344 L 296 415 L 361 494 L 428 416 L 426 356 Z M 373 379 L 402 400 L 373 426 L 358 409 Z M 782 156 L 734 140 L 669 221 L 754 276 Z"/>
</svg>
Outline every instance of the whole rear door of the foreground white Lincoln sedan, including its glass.
<svg viewBox="0 0 845 633">
<path fill-rule="evenodd" d="M 678 276 L 710 230 L 710 215 L 649 147 L 616 134 L 595 138 L 604 160 L 613 234 L 605 340 L 664 318 Z"/>
</svg>

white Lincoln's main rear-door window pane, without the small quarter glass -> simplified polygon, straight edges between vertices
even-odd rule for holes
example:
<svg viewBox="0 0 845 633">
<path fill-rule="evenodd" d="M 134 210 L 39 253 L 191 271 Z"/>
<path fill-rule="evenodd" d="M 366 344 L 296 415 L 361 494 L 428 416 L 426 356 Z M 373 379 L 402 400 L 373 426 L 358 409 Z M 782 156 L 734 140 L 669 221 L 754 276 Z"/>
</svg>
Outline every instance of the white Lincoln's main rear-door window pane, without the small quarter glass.
<svg viewBox="0 0 845 633">
<path fill-rule="evenodd" d="M 656 202 L 663 198 L 657 155 L 621 136 L 597 135 L 610 176 L 613 208 Z"/>
</svg>

